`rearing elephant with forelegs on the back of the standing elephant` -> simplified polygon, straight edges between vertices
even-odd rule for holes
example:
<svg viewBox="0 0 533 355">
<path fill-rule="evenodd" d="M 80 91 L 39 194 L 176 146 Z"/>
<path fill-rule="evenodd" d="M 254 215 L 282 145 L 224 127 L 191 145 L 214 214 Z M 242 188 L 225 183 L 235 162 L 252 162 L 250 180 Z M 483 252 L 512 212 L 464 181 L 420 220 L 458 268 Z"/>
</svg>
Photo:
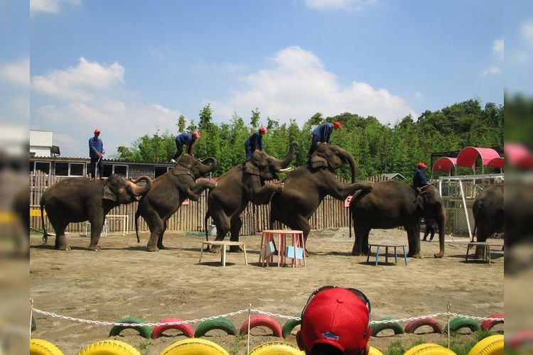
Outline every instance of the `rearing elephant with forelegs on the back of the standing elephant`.
<svg viewBox="0 0 533 355">
<path fill-rule="evenodd" d="M 350 165 L 352 180 L 343 183 L 335 175 L 335 169 L 344 163 Z M 355 181 L 355 160 L 343 148 L 329 143 L 317 143 L 316 151 L 308 162 L 292 170 L 282 180 L 283 191 L 276 193 L 270 202 L 270 227 L 279 221 L 291 229 L 303 231 L 307 241 L 311 226 L 309 219 L 326 195 L 345 200 L 357 190 L 370 191 L 373 182 Z"/>
</svg>

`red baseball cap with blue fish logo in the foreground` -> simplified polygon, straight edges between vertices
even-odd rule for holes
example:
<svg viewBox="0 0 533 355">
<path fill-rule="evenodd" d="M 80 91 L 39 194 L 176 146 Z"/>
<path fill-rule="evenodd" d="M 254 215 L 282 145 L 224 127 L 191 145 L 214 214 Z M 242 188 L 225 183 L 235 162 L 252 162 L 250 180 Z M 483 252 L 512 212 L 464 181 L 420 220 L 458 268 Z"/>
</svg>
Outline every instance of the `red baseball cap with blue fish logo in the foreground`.
<svg viewBox="0 0 533 355">
<path fill-rule="evenodd" d="M 360 297 L 345 288 L 327 288 L 319 291 L 303 310 L 301 342 L 307 351 L 323 343 L 335 346 L 343 354 L 360 354 L 372 333 L 369 321 L 369 309 Z"/>
</svg>

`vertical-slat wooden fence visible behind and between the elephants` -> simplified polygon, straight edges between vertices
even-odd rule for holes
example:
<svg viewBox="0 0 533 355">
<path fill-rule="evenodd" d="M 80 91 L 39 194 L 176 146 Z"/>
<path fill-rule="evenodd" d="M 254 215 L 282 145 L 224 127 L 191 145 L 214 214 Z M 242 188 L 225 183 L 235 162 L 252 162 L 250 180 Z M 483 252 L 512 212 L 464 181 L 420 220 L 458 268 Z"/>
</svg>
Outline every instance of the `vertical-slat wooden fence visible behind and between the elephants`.
<svg viewBox="0 0 533 355">
<path fill-rule="evenodd" d="M 43 192 L 47 187 L 58 182 L 62 178 L 55 177 L 36 171 L 30 175 L 30 209 L 40 209 L 40 201 Z M 372 178 L 372 181 L 384 180 L 384 178 Z M 207 192 L 203 192 L 198 202 L 187 201 L 183 204 L 173 216 L 168 219 L 168 231 L 205 231 L 204 218 L 207 210 Z M 137 210 L 138 202 L 132 204 L 122 204 L 112 209 L 108 215 L 129 216 L 128 229 L 135 231 L 134 216 Z M 38 214 L 33 212 L 32 214 Z M 269 229 L 270 207 L 266 205 L 254 205 L 249 203 L 247 208 L 241 214 L 242 229 L 241 235 L 254 235 L 263 229 Z M 331 227 L 348 226 L 349 222 L 348 208 L 344 207 L 344 201 L 335 200 L 331 196 L 325 197 L 316 212 L 311 216 L 311 229 L 325 229 Z M 139 231 L 148 231 L 148 226 L 144 219 L 140 218 Z M 52 231 L 48 219 L 45 217 L 47 231 Z M 122 220 L 115 218 L 107 219 L 108 229 L 110 232 L 122 231 Z M 276 222 L 276 228 L 281 228 L 281 224 Z M 33 229 L 43 230 L 40 215 L 31 217 L 30 226 Z M 68 225 L 68 232 L 82 233 L 85 230 L 85 222 L 71 223 Z M 52 231 L 53 232 L 53 231 Z"/>
</svg>

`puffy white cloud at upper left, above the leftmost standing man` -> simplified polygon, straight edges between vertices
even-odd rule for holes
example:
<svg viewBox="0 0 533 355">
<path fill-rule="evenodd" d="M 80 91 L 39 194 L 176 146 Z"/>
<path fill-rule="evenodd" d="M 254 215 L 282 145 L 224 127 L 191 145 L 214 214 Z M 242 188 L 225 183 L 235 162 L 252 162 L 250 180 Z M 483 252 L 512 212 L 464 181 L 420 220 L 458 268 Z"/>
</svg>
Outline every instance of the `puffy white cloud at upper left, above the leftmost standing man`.
<svg viewBox="0 0 533 355">
<path fill-rule="evenodd" d="M 32 77 L 31 86 L 58 99 L 88 102 L 95 98 L 95 91 L 111 89 L 123 81 L 124 67 L 119 63 L 101 65 L 82 57 L 77 67 Z"/>
</svg>

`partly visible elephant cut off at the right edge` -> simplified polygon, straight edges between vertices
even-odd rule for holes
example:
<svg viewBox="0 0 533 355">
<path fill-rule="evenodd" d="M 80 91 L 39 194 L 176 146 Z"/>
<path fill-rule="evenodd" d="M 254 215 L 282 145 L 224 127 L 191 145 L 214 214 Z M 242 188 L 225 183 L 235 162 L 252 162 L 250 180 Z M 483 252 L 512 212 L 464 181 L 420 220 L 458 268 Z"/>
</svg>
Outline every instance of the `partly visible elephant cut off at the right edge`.
<svg viewBox="0 0 533 355">
<path fill-rule="evenodd" d="M 494 233 L 503 232 L 503 182 L 487 187 L 475 199 L 472 213 L 474 215 L 474 233 L 477 241 L 487 241 Z M 483 255 L 482 246 L 475 248 L 475 258 Z"/>
</svg>

